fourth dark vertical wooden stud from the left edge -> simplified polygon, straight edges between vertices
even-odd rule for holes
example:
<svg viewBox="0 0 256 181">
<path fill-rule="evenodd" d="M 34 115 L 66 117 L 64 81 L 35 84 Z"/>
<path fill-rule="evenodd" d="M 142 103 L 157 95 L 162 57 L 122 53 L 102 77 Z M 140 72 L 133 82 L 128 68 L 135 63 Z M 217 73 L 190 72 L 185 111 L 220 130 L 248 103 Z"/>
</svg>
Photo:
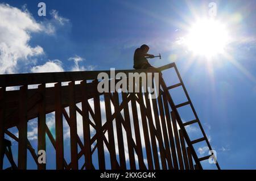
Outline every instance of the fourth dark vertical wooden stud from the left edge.
<svg viewBox="0 0 256 181">
<path fill-rule="evenodd" d="M 61 104 L 61 83 L 55 84 L 55 134 L 56 134 L 56 169 L 64 169 L 63 114 Z"/>
</svg>

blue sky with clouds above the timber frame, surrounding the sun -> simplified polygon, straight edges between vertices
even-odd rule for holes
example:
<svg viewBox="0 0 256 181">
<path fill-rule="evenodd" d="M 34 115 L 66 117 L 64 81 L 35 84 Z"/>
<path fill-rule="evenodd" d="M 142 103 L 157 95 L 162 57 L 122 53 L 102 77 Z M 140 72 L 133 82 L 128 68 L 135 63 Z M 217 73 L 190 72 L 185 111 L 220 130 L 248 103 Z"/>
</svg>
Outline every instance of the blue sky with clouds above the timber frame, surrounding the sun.
<svg viewBox="0 0 256 181">
<path fill-rule="evenodd" d="M 210 61 L 180 40 L 197 18 L 208 16 L 212 1 L 43 1 L 46 16 L 38 16 L 39 2 L 0 1 L 1 15 L 26 15 L 6 16 L 0 25 L 7 35 L 0 33 L 1 42 L 13 48 L 0 44 L 1 74 L 132 69 L 134 50 L 148 44 L 163 57 L 152 65 L 175 61 L 221 168 L 256 169 L 256 1 L 213 1 L 215 18 L 232 39 L 228 56 Z M 165 76 L 167 84 L 174 81 Z"/>
</svg>

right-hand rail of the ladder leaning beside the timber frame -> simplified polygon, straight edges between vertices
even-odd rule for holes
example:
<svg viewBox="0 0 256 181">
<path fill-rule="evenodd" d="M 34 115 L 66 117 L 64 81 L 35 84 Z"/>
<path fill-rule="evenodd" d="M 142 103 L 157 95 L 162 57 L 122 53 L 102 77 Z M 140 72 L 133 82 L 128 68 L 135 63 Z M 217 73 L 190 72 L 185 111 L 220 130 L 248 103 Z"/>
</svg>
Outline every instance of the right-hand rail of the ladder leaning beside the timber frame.
<svg viewBox="0 0 256 181">
<path fill-rule="evenodd" d="M 187 96 L 188 102 L 189 102 L 189 104 L 190 104 L 190 106 L 191 106 L 191 108 L 192 108 L 192 111 L 193 111 L 193 113 L 194 113 L 194 115 L 195 115 L 195 118 L 196 118 L 196 120 L 197 120 L 197 123 L 199 124 L 199 127 L 200 127 L 200 129 L 201 129 L 201 132 L 203 133 L 203 136 L 205 137 L 205 141 L 207 142 L 208 148 L 209 148 L 209 150 L 212 150 L 212 146 L 210 146 L 210 142 L 209 142 L 209 140 L 208 140 L 208 137 L 207 137 L 207 135 L 206 135 L 205 132 L 204 132 L 204 129 L 203 129 L 203 126 L 202 126 L 202 124 L 201 124 L 201 122 L 200 122 L 200 120 L 199 120 L 199 117 L 197 116 L 195 107 L 193 106 L 193 103 L 191 102 L 191 99 L 189 98 L 187 89 L 185 88 L 185 85 L 184 85 L 184 83 L 183 83 L 183 80 L 181 79 L 179 70 L 177 70 L 176 64 L 174 64 L 174 69 L 175 69 L 175 71 L 176 71 L 177 77 L 179 78 L 179 81 L 180 81 L 180 83 L 181 83 L 181 86 L 183 87 L 183 90 L 184 90 L 184 92 L 185 92 L 185 95 Z M 218 165 L 218 162 L 217 162 L 217 161 L 216 161 L 216 166 L 217 166 L 217 169 L 220 170 L 220 165 Z"/>
</svg>

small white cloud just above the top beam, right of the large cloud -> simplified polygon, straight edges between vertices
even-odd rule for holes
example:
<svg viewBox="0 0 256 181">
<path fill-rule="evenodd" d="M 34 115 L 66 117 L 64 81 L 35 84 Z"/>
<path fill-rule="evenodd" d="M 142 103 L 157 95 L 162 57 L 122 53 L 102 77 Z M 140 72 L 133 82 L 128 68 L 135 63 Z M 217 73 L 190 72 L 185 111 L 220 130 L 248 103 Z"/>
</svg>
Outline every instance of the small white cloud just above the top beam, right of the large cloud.
<svg viewBox="0 0 256 181">
<path fill-rule="evenodd" d="M 62 68 L 61 61 L 59 60 L 50 60 L 46 62 L 44 65 L 34 66 L 31 69 L 32 73 L 43 73 L 43 72 L 56 72 L 56 71 L 64 71 Z"/>
</svg>

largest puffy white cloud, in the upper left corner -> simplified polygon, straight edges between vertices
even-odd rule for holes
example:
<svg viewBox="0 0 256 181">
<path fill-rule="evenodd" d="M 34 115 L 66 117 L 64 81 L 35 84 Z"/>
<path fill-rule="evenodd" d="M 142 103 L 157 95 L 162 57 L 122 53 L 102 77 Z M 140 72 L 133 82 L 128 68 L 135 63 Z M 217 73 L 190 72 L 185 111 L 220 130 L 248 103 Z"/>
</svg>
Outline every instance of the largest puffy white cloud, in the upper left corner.
<svg viewBox="0 0 256 181">
<path fill-rule="evenodd" d="M 0 74 L 15 73 L 20 60 L 43 54 L 40 46 L 31 47 L 31 32 L 42 31 L 28 11 L 0 4 Z"/>
</svg>

